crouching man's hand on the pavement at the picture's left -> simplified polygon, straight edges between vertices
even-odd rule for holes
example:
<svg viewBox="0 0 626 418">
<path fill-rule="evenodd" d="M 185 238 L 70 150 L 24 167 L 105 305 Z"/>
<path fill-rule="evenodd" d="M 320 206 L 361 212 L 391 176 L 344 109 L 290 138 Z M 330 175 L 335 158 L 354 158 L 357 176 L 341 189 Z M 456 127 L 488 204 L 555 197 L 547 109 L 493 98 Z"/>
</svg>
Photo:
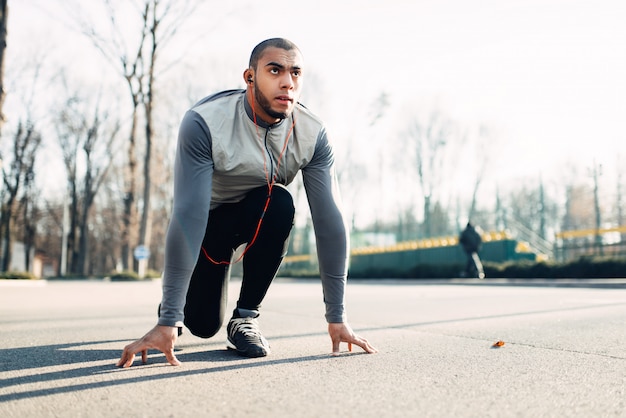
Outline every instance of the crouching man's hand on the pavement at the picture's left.
<svg viewBox="0 0 626 418">
<path fill-rule="evenodd" d="M 135 355 L 141 353 L 141 362 L 148 362 L 148 350 L 155 349 L 165 354 L 165 358 L 172 366 L 179 366 L 181 363 L 174 355 L 174 344 L 178 337 L 176 327 L 157 325 L 146 335 L 124 347 L 122 357 L 117 362 L 118 367 L 130 367 L 133 365 Z"/>
</svg>

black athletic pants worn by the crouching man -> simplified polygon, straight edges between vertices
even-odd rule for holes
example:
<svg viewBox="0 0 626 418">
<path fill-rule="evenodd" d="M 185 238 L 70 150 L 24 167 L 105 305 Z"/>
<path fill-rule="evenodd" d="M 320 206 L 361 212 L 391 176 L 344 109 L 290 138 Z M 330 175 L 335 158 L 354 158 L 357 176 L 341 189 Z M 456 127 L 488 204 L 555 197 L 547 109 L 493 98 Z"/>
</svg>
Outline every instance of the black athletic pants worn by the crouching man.
<svg viewBox="0 0 626 418">
<path fill-rule="evenodd" d="M 253 189 L 238 203 L 223 204 L 209 213 L 202 246 L 214 261 L 230 261 L 234 250 L 250 242 L 268 195 L 268 187 Z M 243 257 L 243 279 L 237 307 L 257 310 L 286 253 L 293 227 L 291 194 L 272 188 L 267 211 L 254 244 Z M 185 326 L 192 334 L 209 338 L 219 331 L 228 301 L 230 266 L 211 262 L 200 251 L 185 303 Z"/>
</svg>

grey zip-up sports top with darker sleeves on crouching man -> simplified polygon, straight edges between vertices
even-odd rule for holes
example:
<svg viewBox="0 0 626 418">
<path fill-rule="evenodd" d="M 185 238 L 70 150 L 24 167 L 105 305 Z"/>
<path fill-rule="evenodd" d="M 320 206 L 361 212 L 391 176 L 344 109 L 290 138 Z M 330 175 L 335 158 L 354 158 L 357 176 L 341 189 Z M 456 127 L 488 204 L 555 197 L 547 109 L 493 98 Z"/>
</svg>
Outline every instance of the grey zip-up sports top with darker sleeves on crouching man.
<svg viewBox="0 0 626 418">
<path fill-rule="evenodd" d="M 270 179 L 275 175 L 278 184 L 288 185 L 299 171 L 315 231 L 326 320 L 346 320 L 349 241 L 326 129 L 301 104 L 291 117 L 276 124 L 268 125 L 260 118 L 256 122 L 245 90 L 209 96 L 182 120 L 174 166 L 173 213 L 165 242 L 160 325 L 182 325 L 185 297 L 209 210 L 240 201 L 248 191 L 266 185 L 268 174 Z"/>
</svg>

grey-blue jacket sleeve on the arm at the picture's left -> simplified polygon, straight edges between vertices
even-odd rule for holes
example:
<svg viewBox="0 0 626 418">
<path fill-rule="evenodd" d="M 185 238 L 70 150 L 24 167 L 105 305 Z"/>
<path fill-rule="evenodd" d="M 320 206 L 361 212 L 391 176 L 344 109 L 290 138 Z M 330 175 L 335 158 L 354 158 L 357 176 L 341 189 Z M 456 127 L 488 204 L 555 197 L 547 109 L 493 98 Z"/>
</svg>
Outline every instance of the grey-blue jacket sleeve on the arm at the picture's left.
<svg viewBox="0 0 626 418">
<path fill-rule="evenodd" d="M 178 134 L 174 202 L 165 238 L 160 325 L 182 325 L 187 289 L 208 221 L 212 181 L 209 128 L 196 112 L 190 110 L 185 114 Z"/>
</svg>

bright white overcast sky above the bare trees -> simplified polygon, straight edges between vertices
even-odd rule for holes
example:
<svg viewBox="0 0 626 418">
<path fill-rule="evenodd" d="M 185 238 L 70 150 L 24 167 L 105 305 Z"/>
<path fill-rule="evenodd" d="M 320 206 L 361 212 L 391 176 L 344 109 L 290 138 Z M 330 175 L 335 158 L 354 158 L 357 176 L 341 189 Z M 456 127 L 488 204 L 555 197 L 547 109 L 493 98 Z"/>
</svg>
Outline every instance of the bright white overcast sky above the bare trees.
<svg viewBox="0 0 626 418">
<path fill-rule="evenodd" d="M 500 177 L 550 176 L 568 162 L 610 167 L 626 157 L 623 0 L 203 3 L 172 48 L 187 66 L 217 62 L 211 68 L 228 73 L 218 77 L 225 88 L 243 87 L 252 47 L 287 37 L 323 86 L 307 92 L 324 96 L 313 110 L 339 138 L 366 123 L 364 104 L 384 91 L 396 126 L 407 109 L 433 108 L 469 128 L 489 126 Z M 50 59 L 93 65 L 73 49 L 88 44 L 60 22 L 68 4 L 9 0 L 7 66 L 42 45 Z"/>
</svg>

